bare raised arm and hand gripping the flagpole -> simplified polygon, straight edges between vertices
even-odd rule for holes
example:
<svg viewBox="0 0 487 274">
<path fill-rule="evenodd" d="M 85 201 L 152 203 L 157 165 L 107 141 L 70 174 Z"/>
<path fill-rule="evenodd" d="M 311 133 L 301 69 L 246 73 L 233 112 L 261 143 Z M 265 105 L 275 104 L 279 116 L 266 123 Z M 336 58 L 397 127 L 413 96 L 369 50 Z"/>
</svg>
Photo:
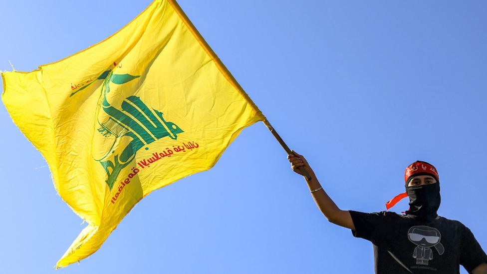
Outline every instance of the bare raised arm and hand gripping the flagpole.
<svg viewBox="0 0 487 274">
<path fill-rule="evenodd" d="M 303 167 L 306 169 L 309 175 L 311 175 L 311 180 L 307 181 L 306 178 L 304 178 L 304 180 L 308 184 L 309 191 L 311 192 L 311 196 L 313 196 L 314 202 L 321 210 L 323 215 L 325 215 L 326 219 L 333 224 L 355 230 L 350 213 L 346 210 L 339 209 L 328 194 L 326 194 L 306 159 L 304 159 L 302 155 L 297 154 L 295 151 L 292 151 L 292 153 L 293 155 L 287 155 L 287 159 L 291 163 L 292 170 L 297 174 L 302 175 L 298 168 Z"/>
</svg>

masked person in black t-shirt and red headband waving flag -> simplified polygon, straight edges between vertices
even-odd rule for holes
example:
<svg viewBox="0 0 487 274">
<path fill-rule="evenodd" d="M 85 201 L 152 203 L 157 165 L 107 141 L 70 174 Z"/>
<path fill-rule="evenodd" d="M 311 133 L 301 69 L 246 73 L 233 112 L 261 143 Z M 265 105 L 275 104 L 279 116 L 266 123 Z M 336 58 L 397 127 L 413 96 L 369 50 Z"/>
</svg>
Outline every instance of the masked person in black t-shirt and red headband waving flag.
<svg viewBox="0 0 487 274">
<path fill-rule="evenodd" d="M 306 159 L 292 151 L 287 156 L 294 172 L 306 180 L 316 205 L 333 224 L 352 230 L 354 237 L 372 242 L 376 274 L 453 274 L 462 265 L 471 274 L 487 274 L 487 255 L 461 222 L 438 216 L 440 180 L 436 168 L 416 161 L 406 168 L 406 192 L 386 204 L 389 209 L 409 197 L 404 215 L 382 211 L 341 210 L 326 194 Z"/>
</svg>

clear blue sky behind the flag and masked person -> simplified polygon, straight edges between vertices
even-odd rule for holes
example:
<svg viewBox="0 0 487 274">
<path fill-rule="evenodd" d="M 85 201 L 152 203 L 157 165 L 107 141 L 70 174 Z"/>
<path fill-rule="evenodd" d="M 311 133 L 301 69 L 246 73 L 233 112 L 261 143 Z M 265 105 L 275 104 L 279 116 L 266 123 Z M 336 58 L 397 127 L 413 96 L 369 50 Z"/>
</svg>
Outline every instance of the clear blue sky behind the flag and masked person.
<svg viewBox="0 0 487 274">
<path fill-rule="evenodd" d="M 76 53 L 150 2 L 1 0 L 0 69 Z M 427 161 L 440 175 L 439 214 L 487 249 L 486 1 L 179 3 L 341 209 L 385 210 L 404 191 L 404 169 Z M 54 273 L 86 224 L 3 105 L 0 123 L 0 273 Z M 373 254 L 327 222 L 259 122 L 213 169 L 153 192 L 61 272 L 373 273 Z"/>
</svg>

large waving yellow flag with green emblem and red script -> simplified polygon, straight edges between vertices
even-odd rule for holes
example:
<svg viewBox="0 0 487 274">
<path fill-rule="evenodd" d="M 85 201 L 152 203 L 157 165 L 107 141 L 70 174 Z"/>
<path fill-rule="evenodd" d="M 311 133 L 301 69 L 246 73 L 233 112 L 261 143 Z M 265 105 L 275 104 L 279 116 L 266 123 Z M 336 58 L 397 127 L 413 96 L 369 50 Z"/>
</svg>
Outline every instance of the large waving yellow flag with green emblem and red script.
<svg viewBox="0 0 487 274">
<path fill-rule="evenodd" d="M 13 121 L 89 224 L 56 267 L 93 254 L 143 197 L 210 169 L 264 119 L 174 0 L 155 0 L 81 52 L 2 79 Z"/>
</svg>

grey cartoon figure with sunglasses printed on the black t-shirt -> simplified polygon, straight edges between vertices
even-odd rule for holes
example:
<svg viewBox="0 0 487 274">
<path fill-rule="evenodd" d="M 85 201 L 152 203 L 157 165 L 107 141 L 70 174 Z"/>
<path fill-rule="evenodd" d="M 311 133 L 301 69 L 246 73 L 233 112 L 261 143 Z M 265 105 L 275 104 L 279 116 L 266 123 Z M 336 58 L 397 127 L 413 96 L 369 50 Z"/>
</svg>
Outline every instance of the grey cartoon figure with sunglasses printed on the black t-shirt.
<svg viewBox="0 0 487 274">
<path fill-rule="evenodd" d="M 428 261 L 433 260 L 431 247 L 435 247 L 439 255 L 445 253 L 445 248 L 440 243 L 441 234 L 436 228 L 426 226 L 411 227 L 408 231 L 408 238 L 409 241 L 417 246 L 413 252 L 416 265 L 428 266 Z"/>
</svg>

